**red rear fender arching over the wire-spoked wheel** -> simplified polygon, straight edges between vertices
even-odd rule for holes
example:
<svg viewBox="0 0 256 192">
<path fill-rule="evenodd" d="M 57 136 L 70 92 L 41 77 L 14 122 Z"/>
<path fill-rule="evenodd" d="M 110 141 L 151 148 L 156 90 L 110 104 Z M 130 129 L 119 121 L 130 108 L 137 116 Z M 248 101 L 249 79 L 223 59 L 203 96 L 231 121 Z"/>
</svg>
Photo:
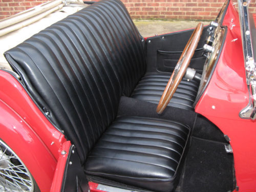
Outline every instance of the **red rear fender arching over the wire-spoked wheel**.
<svg viewBox="0 0 256 192">
<path fill-rule="evenodd" d="M 5 102 L 0 100 L 1 139 L 25 163 L 41 191 L 49 191 L 56 166 L 56 160 L 44 142 Z"/>
</svg>

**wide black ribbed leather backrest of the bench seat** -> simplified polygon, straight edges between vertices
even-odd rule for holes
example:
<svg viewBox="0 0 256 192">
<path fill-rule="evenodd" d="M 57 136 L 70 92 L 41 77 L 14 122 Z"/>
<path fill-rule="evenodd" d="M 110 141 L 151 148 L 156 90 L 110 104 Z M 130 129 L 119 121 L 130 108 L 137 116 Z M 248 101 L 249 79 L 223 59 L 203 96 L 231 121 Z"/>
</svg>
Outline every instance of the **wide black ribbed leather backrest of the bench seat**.
<svg viewBox="0 0 256 192">
<path fill-rule="evenodd" d="M 143 42 L 119 0 L 84 8 L 5 56 L 82 162 L 145 71 Z"/>
</svg>

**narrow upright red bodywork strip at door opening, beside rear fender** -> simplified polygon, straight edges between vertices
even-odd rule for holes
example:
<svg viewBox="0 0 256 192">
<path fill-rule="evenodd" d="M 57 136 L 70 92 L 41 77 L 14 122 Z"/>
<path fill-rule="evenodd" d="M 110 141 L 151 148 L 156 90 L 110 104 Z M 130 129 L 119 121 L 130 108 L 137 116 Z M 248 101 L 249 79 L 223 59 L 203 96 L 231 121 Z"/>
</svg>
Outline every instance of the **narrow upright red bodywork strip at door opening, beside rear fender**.
<svg viewBox="0 0 256 192">
<path fill-rule="evenodd" d="M 66 167 L 67 159 L 69 156 L 70 146 L 71 146 L 70 141 L 66 141 L 65 143 L 63 143 L 61 149 L 59 150 L 58 163 L 57 163 L 56 170 L 54 173 L 52 187 L 51 187 L 50 192 L 60 192 L 60 190 L 61 190 L 63 176 L 65 173 L 65 167 Z M 66 154 L 61 155 L 62 151 L 65 151 Z"/>
</svg>

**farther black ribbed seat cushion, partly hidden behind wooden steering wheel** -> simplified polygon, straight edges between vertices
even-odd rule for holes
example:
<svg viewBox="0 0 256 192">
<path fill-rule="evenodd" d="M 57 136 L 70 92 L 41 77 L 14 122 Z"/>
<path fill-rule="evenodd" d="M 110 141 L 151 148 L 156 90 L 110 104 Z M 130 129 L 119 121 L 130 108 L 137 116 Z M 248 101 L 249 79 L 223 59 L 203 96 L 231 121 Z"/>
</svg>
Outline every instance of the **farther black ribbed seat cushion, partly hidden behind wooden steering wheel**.
<svg viewBox="0 0 256 192">
<path fill-rule="evenodd" d="M 158 103 L 169 78 L 170 74 L 165 73 L 145 74 L 135 88 L 132 97 Z M 198 87 L 199 83 L 197 81 L 187 81 L 183 78 L 168 106 L 192 110 Z"/>
</svg>

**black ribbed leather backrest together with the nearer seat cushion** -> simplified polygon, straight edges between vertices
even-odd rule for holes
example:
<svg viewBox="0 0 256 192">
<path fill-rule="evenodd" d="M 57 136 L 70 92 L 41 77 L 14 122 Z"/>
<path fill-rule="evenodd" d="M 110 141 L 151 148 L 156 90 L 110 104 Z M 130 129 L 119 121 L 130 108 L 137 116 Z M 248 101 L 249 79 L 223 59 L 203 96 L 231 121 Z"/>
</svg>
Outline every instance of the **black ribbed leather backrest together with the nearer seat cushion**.
<svg viewBox="0 0 256 192">
<path fill-rule="evenodd" d="M 88 174 L 172 191 L 189 128 L 163 119 L 116 119 L 121 96 L 131 95 L 145 73 L 143 43 L 124 5 L 109 0 L 5 56 L 39 108 L 76 146 Z"/>
</svg>

